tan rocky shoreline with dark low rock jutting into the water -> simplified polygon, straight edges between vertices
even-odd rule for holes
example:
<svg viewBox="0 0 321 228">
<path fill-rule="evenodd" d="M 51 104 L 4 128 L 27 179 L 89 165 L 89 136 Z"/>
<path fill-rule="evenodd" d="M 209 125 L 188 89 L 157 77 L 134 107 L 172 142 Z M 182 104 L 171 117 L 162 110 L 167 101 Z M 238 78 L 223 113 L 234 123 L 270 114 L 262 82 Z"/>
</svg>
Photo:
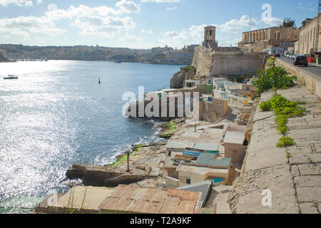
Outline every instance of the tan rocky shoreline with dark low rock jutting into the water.
<svg viewBox="0 0 321 228">
<path fill-rule="evenodd" d="M 161 142 L 151 142 L 146 145 L 132 145 L 131 150 L 116 157 L 116 162 L 108 165 L 74 164 L 66 172 L 69 180 L 81 179 L 83 185 L 116 187 L 117 185 L 137 185 L 157 187 L 163 182 L 163 162 L 165 161 L 165 145 L 168 135 L 183 125 L 185 119 L 178 118 L 168 123 L 160 124 L 158 137 Z M 173 125 L 175 128 L 173 128 Z M 164 136 L 165 135 L 165 136 Z M 129 172 L 127 167 L 127 152 L 129 156 Z"/>
</svg>

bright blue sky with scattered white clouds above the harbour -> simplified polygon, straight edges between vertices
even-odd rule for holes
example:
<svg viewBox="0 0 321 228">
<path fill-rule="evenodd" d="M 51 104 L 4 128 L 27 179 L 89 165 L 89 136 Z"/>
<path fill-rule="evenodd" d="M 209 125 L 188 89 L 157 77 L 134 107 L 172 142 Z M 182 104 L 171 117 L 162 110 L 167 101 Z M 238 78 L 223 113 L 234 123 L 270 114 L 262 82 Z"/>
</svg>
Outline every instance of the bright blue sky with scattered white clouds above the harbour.
<svg viewBox="0 0 321 228">
<path fill-rule="evenodd" d="M 263 4 L 272 17 L 263 19 Z M 215 25 L 220 46 L 235 46 L 243 31 L 297 26 L 317 16 L 317 0 L 0 0 L 0 43 L 181 48 L 200 44 Z"/>
</svg>

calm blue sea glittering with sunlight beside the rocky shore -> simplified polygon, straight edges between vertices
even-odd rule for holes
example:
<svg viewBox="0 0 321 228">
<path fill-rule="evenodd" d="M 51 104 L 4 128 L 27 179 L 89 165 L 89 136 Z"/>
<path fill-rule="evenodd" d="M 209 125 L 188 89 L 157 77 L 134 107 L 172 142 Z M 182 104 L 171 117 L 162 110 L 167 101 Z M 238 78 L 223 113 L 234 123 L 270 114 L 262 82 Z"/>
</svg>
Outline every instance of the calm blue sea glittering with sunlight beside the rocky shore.
<svg viewBox="0 0 321 228">
<path fill-rule="evenodd" d="M 123 118 L 123 93 L 169 87 L 180 66 L 48 61 L 0 63 L 0 212 L 26 212 L 75 162 L 106 165 L 136 142 L 157 140 L 150 121 Z M 101 85 L 98 84 L 101 78 Z"/>
</svg>

